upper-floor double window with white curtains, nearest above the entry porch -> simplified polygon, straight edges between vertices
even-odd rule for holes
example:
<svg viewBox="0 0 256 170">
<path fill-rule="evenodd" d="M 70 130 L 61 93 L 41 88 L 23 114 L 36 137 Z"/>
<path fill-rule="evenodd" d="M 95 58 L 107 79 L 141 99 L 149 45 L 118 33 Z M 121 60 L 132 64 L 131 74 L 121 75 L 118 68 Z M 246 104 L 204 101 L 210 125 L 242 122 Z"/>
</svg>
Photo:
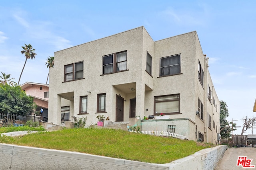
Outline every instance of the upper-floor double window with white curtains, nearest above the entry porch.
<svg viewBox="0 0 256 170">
<path fill-rule="evenodd" d="M 103 74 L 127 70 L 127 51 L 103 56 Z"/>
</svg>

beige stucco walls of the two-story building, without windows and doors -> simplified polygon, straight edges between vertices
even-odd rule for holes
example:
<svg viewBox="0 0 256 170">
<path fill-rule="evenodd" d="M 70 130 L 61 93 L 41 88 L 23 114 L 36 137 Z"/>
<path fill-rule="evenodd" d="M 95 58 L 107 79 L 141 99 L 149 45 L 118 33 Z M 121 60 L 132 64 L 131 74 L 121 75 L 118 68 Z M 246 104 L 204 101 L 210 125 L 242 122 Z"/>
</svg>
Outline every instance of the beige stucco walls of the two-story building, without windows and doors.
<svg viewBox="0 0 256 170">
<path fill-rule="evenodd" d="M 102 75 L 102 56 L 120 51 L 127 51 L 127 70 Z M 145 71 L 147 52 L 152 56 L 152 75 Z M 181 54 L 181 74 L 160 77 L 160 58 L 177 54 Z M 210 76 L 205 76 L 204 87 L 198 80 L 198 61 L 205 68 L 205 75 L 208 68 L 196 31 L 154 42 L 144 27 L 138 27 L 57 51 L 54 57 L 49 80 L 49 122 L 60 124 L 60 108 L 68 106 L 63 98 L 69 101 L 70 120 L 72 116 L 87 117 L 89 126 L 96 123 L 98 114 L 116 121 L 116 95 L 124 98 L 124 121 L 129 121 L 131 98 L 136 98 L 136 115 L 144 117 L 155 114 L 154 96 L 180 94 L 180 113 L 170 118 L 188 117 L 195 123 L 197 134 L 203 133 L 207 142 L 216 141 L 217 132 L 207 129 L 207 113 L 212 114 L 217 124 L 218 113 L 212 110 L 218 109 L 213 109 L 206 100 L 208 82 L 212 86 Z M 81 61 L 83 79 L 64 82 L 64 66 Z M 97 94 L 101 93 L 106 93 L 105 113 L 97 113 Z M 80 96 L 88 98 L 88 114 L 79 114 Z M 196 115 L 198 98 L 204 102 L 204 120 Z M 193 131 L 189 139 L 197 140 L 194 125 L 187 128 Z"/>
</svg>

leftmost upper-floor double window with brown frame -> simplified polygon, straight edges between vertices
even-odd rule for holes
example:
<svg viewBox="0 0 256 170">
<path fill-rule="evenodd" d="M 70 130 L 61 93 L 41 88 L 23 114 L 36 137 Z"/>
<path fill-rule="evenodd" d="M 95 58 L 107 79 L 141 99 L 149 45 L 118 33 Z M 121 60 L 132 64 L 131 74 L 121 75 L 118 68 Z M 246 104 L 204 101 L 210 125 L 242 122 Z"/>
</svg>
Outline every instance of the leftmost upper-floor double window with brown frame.
<svg viewBox="0 0 256 170">
<path fill-rule="evenodd" d="M 83 62 L 64 66 L 64 82 L 83 78 Z"/>
</svg>

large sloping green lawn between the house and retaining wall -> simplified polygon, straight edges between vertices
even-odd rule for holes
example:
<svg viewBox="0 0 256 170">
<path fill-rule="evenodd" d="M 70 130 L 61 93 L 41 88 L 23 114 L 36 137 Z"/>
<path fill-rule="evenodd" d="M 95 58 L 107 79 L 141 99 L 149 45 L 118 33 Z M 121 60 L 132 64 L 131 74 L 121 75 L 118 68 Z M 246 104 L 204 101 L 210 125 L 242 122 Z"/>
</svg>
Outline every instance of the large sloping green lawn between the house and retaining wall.
<svg viewBox="0 0 256 170">
<path fill-rule="evenodd" d="M 83 152 L 159 164 L 169 163 L 213 146 L 123 130 L 91 128 L 41 131 L 22 137 L 0 137 L 0 143 Z"/>
</svg>

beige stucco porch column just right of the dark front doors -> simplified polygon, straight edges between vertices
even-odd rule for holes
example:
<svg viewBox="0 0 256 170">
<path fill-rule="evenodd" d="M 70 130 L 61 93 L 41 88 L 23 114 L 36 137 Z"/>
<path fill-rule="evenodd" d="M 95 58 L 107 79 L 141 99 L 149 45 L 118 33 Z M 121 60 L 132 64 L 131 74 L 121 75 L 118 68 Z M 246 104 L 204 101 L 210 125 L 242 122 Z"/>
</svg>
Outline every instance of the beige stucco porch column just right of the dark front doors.
<svg viewBox="0 0 256 170">
<path fill-rule="evenodd" d="M 136 82 L 136 116 L 140 116 L 141 119 L 145 115 L 145 84 Z M 148 115 L 145 115 L 148 116 Z"/>
</svg>

